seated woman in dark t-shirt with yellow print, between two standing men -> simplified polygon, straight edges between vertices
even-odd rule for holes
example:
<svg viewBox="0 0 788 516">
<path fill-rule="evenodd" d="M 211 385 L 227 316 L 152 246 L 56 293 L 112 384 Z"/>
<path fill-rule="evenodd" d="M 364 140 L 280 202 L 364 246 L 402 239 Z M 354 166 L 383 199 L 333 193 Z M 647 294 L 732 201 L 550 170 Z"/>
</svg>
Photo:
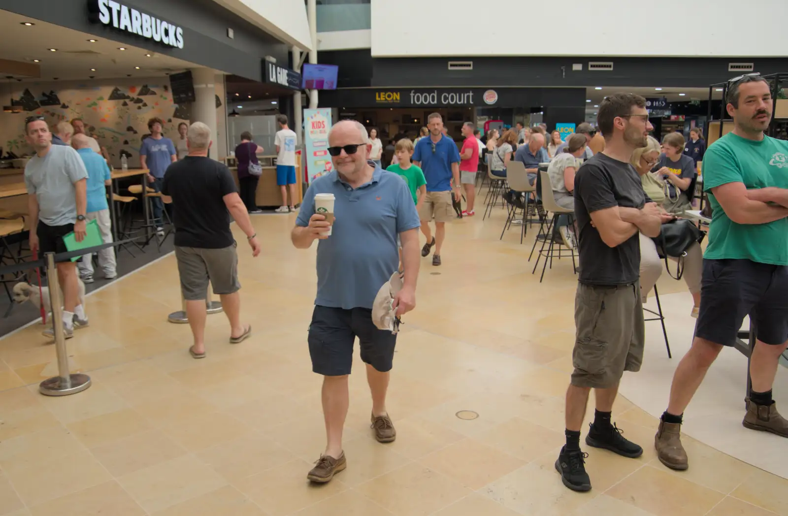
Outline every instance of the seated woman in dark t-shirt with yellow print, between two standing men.
<svg viewBox="0 0 788 516">
<path fill-rule="evenodd" d="M 665 202 L 662 207 L 667 213 L 681 215 L 692 210 L 693 192 L 689 186 L 697 176 L 695 161 L 684 154 L 684 136 L 670 132 L 662 139 L 662 151 L 653 171 L 665 181 Z"/>
</svg>

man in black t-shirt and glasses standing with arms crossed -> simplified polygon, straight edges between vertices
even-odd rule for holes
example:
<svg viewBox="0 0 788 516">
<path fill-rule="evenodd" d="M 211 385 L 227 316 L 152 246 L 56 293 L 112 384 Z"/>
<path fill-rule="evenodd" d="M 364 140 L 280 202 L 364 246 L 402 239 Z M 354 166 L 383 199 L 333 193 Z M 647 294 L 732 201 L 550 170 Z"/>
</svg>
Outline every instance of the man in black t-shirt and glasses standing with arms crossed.
<svg viewBox="0 0 788 516">
<path fill-rule="evenodd" d="M 574 299 L 576 339 L 574 372 L 567 389 L 567 444 L 556 470 L 574 491 L 589 491 L 580 430 L 589 392 L 597 410 L 585 444 L 635 458 L 643 448 L 626 440 L 611 423 L 611 408 L 624 371 L 637 371 L 643 359 L 645 327 L 638 278 L 637 233 L 659 236 L 662 217 L 645 196 L 630 165 L 637 147 L 652 130 L 645 98 L 617 93 L 605 98 L 598 123 L 604 151 L 583 163 L 574 178 L 574 213 L 578 221 L 580 277 Z"/>
</svg>

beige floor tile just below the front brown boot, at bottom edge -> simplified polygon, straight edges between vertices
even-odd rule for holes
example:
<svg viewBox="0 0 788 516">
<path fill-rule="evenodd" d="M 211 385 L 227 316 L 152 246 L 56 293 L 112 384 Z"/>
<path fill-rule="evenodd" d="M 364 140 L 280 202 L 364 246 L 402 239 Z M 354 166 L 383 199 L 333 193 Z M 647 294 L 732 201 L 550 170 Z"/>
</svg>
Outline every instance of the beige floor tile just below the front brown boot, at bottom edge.
<svg viewBox="0 0 788 516">
<path fill-rule="evenodd" d="M 656 516 L 706 514 L 725 497 L 652 466 L 637 470 L 607 494 Z"/>
</svg>

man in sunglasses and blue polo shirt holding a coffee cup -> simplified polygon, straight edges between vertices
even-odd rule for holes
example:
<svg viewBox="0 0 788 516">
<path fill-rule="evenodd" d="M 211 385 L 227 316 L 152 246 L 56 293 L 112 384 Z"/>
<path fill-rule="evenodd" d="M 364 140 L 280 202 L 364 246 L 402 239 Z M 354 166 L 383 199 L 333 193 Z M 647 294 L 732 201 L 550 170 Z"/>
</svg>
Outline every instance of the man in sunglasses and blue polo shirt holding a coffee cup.
<svg viewBox="0 0 788 516">
<path fill-rule="evenodd" d="M 348 415 L 348 375 L 353 342 L 359 337 L 361 359 L 372 392 L 375 438 L 390 443 L 396 431 L 386 412 L 389 371 L 396 335 L 377 329 L 372 306 L 377 291 L 399 266 L 397 236 L 402 241 L 403 288 L 394 298 L 398 316 L 413 310 L 418 278 L 418 213 L 407 184 L 396 173 L 369 161 L 372 143 L 356 121 L 341 121 L 329 132 L 334 170 L 307 189 L 292 231 L 292 243 L 307 249 L 318 242 L 318 295 L 309 327 L 312 370 L 323 375 L 322 403 L 327 445 L 307 478 L 331 481 L 346 465 L 342 429 Z M 456 150 L 456 149 L 455 149 Z M 317 194 L 334 195 L 334 222 L 315 213 Z M 331 227 L 331 236 L 324 236 Z"/>
</svg>

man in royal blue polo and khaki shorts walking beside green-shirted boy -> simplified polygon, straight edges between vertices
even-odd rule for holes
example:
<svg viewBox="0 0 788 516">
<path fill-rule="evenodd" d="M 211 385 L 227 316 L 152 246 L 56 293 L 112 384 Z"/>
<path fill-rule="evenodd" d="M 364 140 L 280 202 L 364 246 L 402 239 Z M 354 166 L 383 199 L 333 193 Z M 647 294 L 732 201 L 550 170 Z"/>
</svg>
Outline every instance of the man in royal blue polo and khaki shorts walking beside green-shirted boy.
<svg viewBox="0 0 788 516">
<path fill-rule="evenodd" d="M 427 117 L 429 138 L 422 138 L 413 151 L 413 164 L 420 167 L 427 180 L 427 195 L 418 216 L 422 219 L 422 233 L 427 243 L 422 247 L 422 256 L 429 254 L 435 246 L 433 265 L 440 265 L 440 247 L 446 238 L 446 223 L 454 220 L 452 204 L 452 181 L 454 199 L 459 202 L 459 150 L 454 140 L 443 134 L 443 118 L 439 113 Z M 435 219 L 435 237 L 429 221 Z"/>
</svg>

